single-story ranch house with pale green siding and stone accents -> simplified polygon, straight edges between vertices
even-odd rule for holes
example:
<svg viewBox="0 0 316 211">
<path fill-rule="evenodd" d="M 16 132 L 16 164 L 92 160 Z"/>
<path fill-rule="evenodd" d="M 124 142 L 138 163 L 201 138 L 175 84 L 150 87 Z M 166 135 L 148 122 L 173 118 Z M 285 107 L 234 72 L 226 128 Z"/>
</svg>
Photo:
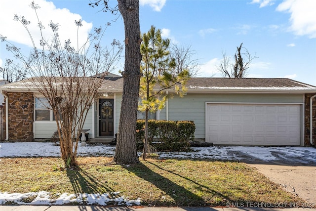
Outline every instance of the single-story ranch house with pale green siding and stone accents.
<svg viewBox="0 0 316 211">
<path fill-rule="evenodd" d="M 112 76 L 104 79 L 102 97 L 95 100 L 85 121 L 84 129 L 94 141 L 112 140 L 118 132 L 123 79 Z M 194 121 L 196 139 L 214 145 L 316 145 L 316 86 L 284 78 L 191 78 L 187 87 L 183 98 L 175 94 L 152 118 Z M 37 112 L 38 93 L 21 82 L 0 86 L 0 91 L 6 101 L 2 140 L 52 136 L 56 123 L 52 111 L 45 111 L 44 117 Z M 107 119 L 100 115 L 104 106 L 113 110 Z"/>
</svg>

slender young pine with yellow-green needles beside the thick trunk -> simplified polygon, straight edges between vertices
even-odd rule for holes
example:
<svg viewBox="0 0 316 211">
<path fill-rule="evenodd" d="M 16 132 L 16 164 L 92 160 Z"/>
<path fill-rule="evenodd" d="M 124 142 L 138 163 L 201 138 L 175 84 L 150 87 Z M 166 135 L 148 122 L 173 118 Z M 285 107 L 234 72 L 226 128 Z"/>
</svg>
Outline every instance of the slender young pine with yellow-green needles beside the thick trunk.
<svg viewBox="0 0 316 211">
<path fill-rule="evenodd" d="M 186 92 L 186 81 L 190 78 L 188 70 L 174 74 L 177 65 L 175 59 L 170 57 L 169 39 L 161 38 L 161 30 L 154 26 L 142 35 L 143 42 L 140 50 L 143 55 L 140 80 L 141 103 L 138 110 L 145 112 L 145 140 L 142 159 L 146 159 L 148 147 L 148 119 L 149 112 L 161 110 L 168 94 L 166 90 L 173 89 L 180 96 Z M 181 84 L 180 86 L 178 84 Z M 160 95 L 163 95 L 160 98 Z"/>
</svg>

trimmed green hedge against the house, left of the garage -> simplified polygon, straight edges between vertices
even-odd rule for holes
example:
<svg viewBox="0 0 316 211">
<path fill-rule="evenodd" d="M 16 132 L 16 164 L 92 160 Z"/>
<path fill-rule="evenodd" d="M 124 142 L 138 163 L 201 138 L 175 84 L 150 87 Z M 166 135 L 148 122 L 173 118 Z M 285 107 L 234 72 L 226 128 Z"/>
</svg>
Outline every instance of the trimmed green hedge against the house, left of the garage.
<svg viewBox="0 0 316 211">
<path fill-rule="evenodd" d="M 137 120 L 137 148 L 143 149 L 145 120 Z M 193 121 L 148 121 L 148 143 L 158 151 L 187 150 L 194 141 L 196 126 Z"/>
</svg>

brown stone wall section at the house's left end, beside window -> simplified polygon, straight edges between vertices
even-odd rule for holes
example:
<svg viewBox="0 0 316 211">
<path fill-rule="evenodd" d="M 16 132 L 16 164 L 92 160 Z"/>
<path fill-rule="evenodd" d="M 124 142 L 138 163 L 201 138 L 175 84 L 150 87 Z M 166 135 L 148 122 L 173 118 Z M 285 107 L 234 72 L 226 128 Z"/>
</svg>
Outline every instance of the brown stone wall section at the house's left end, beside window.
<svg viewBox="0 0 316 211">
<path fill-rule="evenodd" d="M 9 141 L 33 141 L 34 98 L 32 92 L 6 92 L 8 95 Z M 5 99 L 6 100 L 6 99 Z M 5 139 L 5 103 L 3 106 L 3 134 Z"/>
</svg>

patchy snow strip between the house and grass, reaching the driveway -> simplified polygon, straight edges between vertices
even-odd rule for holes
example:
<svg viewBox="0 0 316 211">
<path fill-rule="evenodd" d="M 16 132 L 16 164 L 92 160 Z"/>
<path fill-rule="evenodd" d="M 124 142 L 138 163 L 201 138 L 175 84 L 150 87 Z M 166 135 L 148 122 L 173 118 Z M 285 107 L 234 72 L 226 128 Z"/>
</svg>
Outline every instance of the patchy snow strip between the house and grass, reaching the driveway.
<svg viewBox="0 0 316 211">
<path fill-rule="evenodd" d="M 115 146 L 87 145 L 78 147 L 78 156 L 113 157 Z M 245 156 L 262 161 L 279 160 L 278 155 L 297 159 L 309 159 L 316 162 L 316 149 L 312 147 L 263 147 L 263 146 L 213 146 L 192 147 L 193 152 L 158 152 L 159 158 L 214 159 L 241 161 Z M 138 153 L 141 156 L 141 152 Z M 0 157 L 60 157 L 59 146 L 51 142 L 0 143 Z"/>
</svg>

